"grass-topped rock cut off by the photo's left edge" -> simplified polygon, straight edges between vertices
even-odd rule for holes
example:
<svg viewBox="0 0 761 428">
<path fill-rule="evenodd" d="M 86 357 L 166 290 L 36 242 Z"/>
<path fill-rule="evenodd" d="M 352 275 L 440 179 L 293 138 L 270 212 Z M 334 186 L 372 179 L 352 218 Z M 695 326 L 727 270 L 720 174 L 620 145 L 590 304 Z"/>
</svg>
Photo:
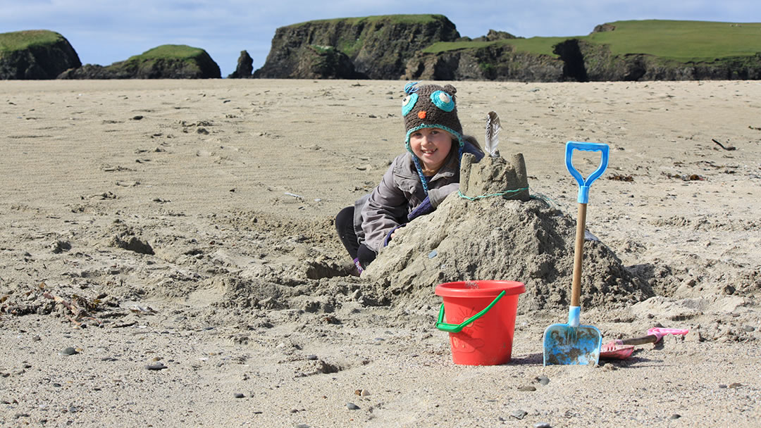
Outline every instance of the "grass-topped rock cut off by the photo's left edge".
<svg viewBox="0 0 761 428">
<path fill-rule="evenodd" d="M 0 34 L 0 79 L 54 79 L 81 62 L 68 40 L 48 30 Z"/>
</svg>

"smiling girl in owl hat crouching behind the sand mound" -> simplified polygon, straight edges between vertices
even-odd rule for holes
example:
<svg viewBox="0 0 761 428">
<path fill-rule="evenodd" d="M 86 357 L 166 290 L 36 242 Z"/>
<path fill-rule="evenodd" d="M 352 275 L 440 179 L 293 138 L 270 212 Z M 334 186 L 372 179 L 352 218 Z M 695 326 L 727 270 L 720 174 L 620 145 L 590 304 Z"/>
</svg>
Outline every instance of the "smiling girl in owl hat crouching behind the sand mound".
<svg viewBox="0 0 761 428">
<path fill-rule="evenodd" d="M 460 187 L 463 153 L 483 157 L 457 119 L 451 84 L 406 84 L 402 101 L 406 153 L 393 160 L 370 195 L 336 216 L 336 230 L 358 273 L 415 217 L 434 211 Z"/>
</svg>

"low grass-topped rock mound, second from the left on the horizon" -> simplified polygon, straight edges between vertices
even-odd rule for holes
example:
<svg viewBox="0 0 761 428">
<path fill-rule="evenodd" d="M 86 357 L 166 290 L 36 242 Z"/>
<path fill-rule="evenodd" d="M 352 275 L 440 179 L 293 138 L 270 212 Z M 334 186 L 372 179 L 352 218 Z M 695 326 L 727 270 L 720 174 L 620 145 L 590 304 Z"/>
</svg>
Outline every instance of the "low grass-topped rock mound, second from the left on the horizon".
<svg viewBox="0 0 761 428">
<path fill-rule="evenodd" d="M 209 54 L 185 45 L 162 45 L 112 65 L 72 68 L 61 79 L 206 79 L 221 78 Z"/>
</svg>

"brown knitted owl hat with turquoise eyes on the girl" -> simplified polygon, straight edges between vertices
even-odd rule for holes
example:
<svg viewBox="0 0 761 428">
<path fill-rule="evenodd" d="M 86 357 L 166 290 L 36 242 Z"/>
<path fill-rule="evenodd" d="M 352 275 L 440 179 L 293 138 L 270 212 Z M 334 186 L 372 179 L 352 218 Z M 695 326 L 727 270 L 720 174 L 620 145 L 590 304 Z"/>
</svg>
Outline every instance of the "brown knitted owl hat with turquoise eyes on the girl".
<svg viewBox="0 0 761 428">
<path fill-rule="evenodd" d="M 457 89 L 451 84 L 443 87 L 438 84 L 424 84 L 416 86 L 418 82 L 411 82 L 404 85 L 404 92 L 407 94 L 402 101 L 402 116 L 404 117 L 404 127 L 407 134 L 404 139 L 407 151 L 412 154 L 412 160 L 415 162 L 418 175 L 428 194 L 428 179 L 422 173 L 420 160 L 412 152 L 409 146 L 409 136 L 422 128 L 440 128 L 454 135 L 459 141 L 458 157 L 463 156 L 463 126 L 460 125 L 460 119 L 457 118 L 457 104 L 454 94 Z"/>
</svg>

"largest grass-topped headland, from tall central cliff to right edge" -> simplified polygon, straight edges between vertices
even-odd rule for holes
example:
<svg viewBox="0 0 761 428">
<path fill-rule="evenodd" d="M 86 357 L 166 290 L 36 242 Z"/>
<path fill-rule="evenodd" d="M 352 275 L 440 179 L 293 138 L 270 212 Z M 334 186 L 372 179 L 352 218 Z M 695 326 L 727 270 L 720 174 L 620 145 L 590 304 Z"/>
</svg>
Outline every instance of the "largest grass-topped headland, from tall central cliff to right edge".
<svg viewBox="0 0 761 428">
<path fill-rule="evenodd" d="M 307 21 L 275 32 L 266 63 L 254 75 L 502 81 L 761 78 L 761 24 L 616 21 L 587 36 L 500 33 L 461 38 L 454 24 L 437 14 Z M 336 52 L 323 58 L 324 47 Z M 333 63 L 341 65 L 340 71 L 325 67 Z"/>
</svg>

